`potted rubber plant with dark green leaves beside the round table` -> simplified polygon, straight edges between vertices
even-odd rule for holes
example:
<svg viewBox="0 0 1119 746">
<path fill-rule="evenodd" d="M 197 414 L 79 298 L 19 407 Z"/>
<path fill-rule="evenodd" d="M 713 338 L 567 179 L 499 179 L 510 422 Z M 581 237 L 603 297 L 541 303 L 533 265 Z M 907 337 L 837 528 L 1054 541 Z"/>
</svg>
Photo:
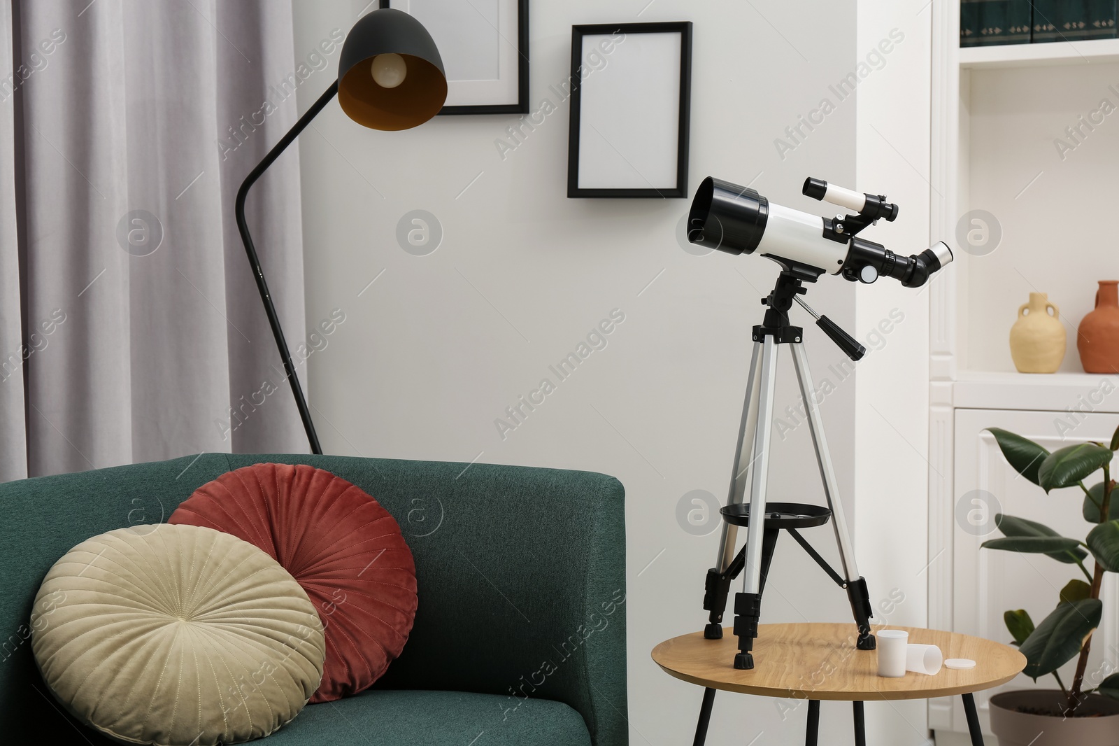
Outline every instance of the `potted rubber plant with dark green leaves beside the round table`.
<svg viewBox="0 0 1119 746">
<path fill-rule="evenodd" d="M 1000 746 L 1119 746 L 1119 673 L 1098 671 L 1085 681 L 1092 633 L 1103 613 L 1103 574 L 1119 571 L 1119 493 L 1113 494 L 1110 470 L 1119 429 L 1110 446 L 1084 442 L 1052 454 L 1013 432 L 988 430 L 1014 470 L 1046 493 L 1079 486 L 1084 493 L 1081 514 L 1092 524 L 1080 541 L 1024 517 L 995 516 L 1003 538 L 985 541 L 984 548 L 1045 554 L 1079 568 L 1083 578 L 1073 578 L 1061 589 L 1056 608 L 1036 626 L 1025 609 L 1004 615 L 1014 644 L 1026 656 L 1023 673 L 1034 681 L 1053 674 L 1060 691 L 1027 689 L 991 697 L 991 729 Z M 1100 470 L 1102 481 L 1085 486 Z M 1092 571 L 1084 563 L 1089 557 Z M 1076 672 L 1065 686 L 1057 669 L 1078 656 Z M 1106 673 L 1110 675 L 1104 678 Z"/>
</svg>

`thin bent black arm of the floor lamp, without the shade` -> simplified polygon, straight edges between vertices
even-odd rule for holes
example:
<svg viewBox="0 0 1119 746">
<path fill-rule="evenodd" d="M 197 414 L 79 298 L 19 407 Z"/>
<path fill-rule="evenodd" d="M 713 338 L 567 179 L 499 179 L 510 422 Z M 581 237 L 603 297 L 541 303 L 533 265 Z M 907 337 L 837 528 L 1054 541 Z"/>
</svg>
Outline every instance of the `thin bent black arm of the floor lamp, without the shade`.
<svg viewBox="0 0 1119 746">
<path fill-rule="evenodd" d="M 283 329 L 280 327 L 280 317 L 276 315 L 276 307 L 272 302 L 272 295 L 269 292 L 269 283 L 264 280 L 264 270 L 261 269 L 261 260 L 256 255 L 256 248 L 253 245 L 253 236 L 248 233 L 248 222 L 245 220 L 245 197 L 248 196 L 248 189 L 256 183 L 256 179 L 267 169 L 269 166 L 280 157 L 288 146 L 290 146 L 299 133 L 307 129 L 307 125 L 311 123 L 311 120 L 322 111 L 323 106 L 330 103 L 330 100 L 335 97 L 338 93 L 338 81 L 335 81 L 327 91 L 319 96 L 310 109 L 307 110 L 299 121 L 295 122 L 294 127 L 288 130 L 288 133 L 280 139 L 280 142 L 269 151 L 269 155 L 264 156 L 264 159 L 256 165 L 248 176 L 245 177 L 244 183 L 241 188 L 237 189 L 237 203 L 234 212 L 237 216 L 237 230 L 241 231 L 241 241 L 245 244 L 245 253 L 248 255 L 248 264 L 253 270 L 253 278 L 256 280 L 256 289 L 261 292 L 261 301 L 264 304 L 264 313 L 269 317 L 269 325 L 272 327 L 272 336 L 275 337 L 276 348 L 280 351 L 280 357 L 283 358 L 283 369 L 288 374 L 288 382 L 291 384 L 291 393 L 295 397 L 295 408 L 299 409 L 299 417 L 303 420 L 303 429 L 307 430 L 307 439 L 311 444 L 312 454 L 322 454 L 322 446 L 319 445 L 319 436 L 314 432 L 314 422 L 311 421 L 311 411 L 307 405 L 307 398 L 303 395 L 303 389 L 299 385 L 299 375 L 295 373 L 295 366 L 291 362 L 291 353 L 288 351 L 288 342 L 284 339 Z"/>
</svg>

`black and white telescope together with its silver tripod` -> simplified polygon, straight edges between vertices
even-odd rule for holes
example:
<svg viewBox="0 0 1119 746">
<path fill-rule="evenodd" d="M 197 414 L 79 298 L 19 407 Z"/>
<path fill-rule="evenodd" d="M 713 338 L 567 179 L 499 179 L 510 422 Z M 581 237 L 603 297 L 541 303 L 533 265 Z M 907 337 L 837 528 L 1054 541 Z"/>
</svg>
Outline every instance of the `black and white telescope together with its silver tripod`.
<svg viewBox="0 0 1119 746">
<path fill-rule="evenodd" d="M 805 282 L 815 282 L 821 274 L 841 274 L 850 281 L 871 283 L 880 277 L 892 277 L 906 288 L 919 288 L 935 272 L 952 261 L 952 252 L 938 241 L 920 254 L 899 257 L 885 246 L 858 237 L 858 233 L 878 220 L 893 222 L 897 205 L 884 195 L 859 194 L 821 179 L 808 178 L 803 194 L 849 211 L 834 218 L 819 217 L 799 209 L 770 203 L 754 189 L 707 177 L 699 185 L 688 213 L 688 241 L 707 249 L 731 254 L 758 253 L 781 265 L 773 290 L 762 298 L 767 307 L 762 323 L 753 327 L 753 354 L 746 380 L 742 420 L 734 449 L 734 465 L 726 496 L 720 513 L 723 530 L 714 567 L 704 578 L 703 608 L 707 625 L 703 636 L 712 641 L 712 654 L 734 652 L 734 668 L 754 668 L 753 646 L 759 635 L 762 591 L 769 575 L 778 537 L 786 532 L 808 552 L 827 576 L 847 591 L 854 630 L 850 641 L 859 651 L 877 646 L 871 617 L 874 606 L 866 579 L 855 561 L 839 481 L 828 451 L 820 416 L 819 399 L 812 382 L 803 329 L 789 318 L 793 304 L 816 318 L 816 324 L 854 361 L 866 353 L 863 345 L 827 316 L 814 311 L 800 296 L 807 292 Z M 816 463 L 824 484 L 827 506 L 800 503 L 769 502 L 769 469 L 778 379 L 778 353 L 782 347 L 792 352 L 793 369 L 816 453 Z M 801 529 L 831 523 L 839 550 L 839 567 L 833 568 Z M 739 528 L 746 530 L 746 541 L 737 549 Z M 731 584 L 742 576 L 742 591 L 734 596 L 734 636 L 732 644 L 722 644 L 723 615 Z M 769 665 L 780 665 L 771 661 Z M 862 663 L 867 665 L 867 663 Z M 707 736 L 715 689 L 704 690 L 696 724 L 694 744 L 702 746 Z M 818 707 L 818 702 L 816 702 Z M 809 720 L 818 710 L 809 705 Z M 862 702 L 856 702 L 856 722 L 861 721 Z M 809 726 L 809 733 L 815 733 Z M 815 743 L 815 740 L 812 740 Z M 862 743 L 862 740 L 859 740 Z"/>
</svg>

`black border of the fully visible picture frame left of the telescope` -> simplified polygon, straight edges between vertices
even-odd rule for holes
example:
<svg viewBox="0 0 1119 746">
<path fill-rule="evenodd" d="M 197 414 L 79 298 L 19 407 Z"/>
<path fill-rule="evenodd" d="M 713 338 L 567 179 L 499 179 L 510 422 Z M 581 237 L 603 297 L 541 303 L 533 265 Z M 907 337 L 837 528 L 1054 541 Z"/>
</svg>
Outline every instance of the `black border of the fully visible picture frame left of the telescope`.
<svg viewBox="0 0 1119 746">
<path fill-rule="evenodd" d="M 676 185 L 670 188 L 581 188 L 579 186 L 580 122 L 582 116 L 583 37 L 613 34 L 680 34 L 679 140 L 677 143 Z M 584 24 L 571 28 L 571 120 L 567 133 L 567 197 L 660 197 L 688 196 L 688 141 L 692 110 L 692 21 L 641 24 Z"/>
</svg>

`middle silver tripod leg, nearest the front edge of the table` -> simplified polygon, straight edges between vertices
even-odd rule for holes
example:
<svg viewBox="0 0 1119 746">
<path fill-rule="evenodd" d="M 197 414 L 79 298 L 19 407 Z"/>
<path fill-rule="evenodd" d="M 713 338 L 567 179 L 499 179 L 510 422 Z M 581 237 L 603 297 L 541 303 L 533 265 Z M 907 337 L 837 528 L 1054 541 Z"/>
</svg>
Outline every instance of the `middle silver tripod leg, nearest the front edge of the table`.
<svg viewBox="0 0 1119 746">
<path fill-rule="evenodd" d="M 772 336 L 762 344 L 762 367 L 754 429 L 753 473 L 750 482 L 750 515 L 746 529 L 745 571 L 742 593 L 734 597 L 734 634 L 739 638 L 735 669 L 754 668 L 751 651 L 758 636 L 762 612 L 763 534 L 765 529 L 765 483 L 769 479 L 770 441 L 773 432 L 773 392 L 777 386 L 778 345 Z"/>
</svg>

